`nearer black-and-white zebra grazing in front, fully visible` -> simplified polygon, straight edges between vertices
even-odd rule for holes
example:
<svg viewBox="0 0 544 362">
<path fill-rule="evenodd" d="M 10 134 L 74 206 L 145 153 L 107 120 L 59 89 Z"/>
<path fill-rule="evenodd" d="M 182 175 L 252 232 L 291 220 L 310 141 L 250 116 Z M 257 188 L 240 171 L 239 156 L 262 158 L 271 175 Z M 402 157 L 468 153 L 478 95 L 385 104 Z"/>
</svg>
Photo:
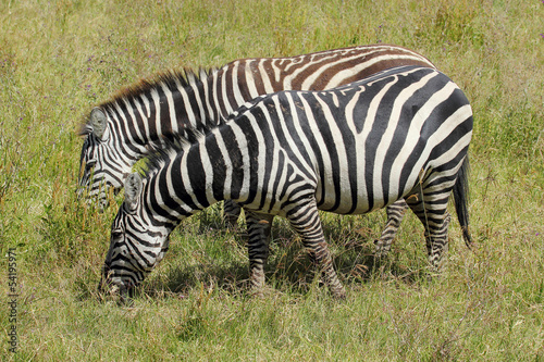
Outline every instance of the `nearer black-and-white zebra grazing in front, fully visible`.
<svg viewBox="0 0 544 362">
<path fill-rule="evenodd" d="M 264 284 L 274 215 L 286 217 L 344 297 L 319 210 L 359 214 L 405 199 L 425 228 L 431 265 L 447 250 L 453 191 L 467 245 L 468 147 L 472 111 L 444 74 L 404 66 L 327 91 L 281 91 L 181 149 L 151 158 L 145 178 L 131 174 L 111 227 L 100 289 L 122 295 L 163 258 L 185 217 L 220 200 L 248 211 L 250 279 Z"/>
</svg>

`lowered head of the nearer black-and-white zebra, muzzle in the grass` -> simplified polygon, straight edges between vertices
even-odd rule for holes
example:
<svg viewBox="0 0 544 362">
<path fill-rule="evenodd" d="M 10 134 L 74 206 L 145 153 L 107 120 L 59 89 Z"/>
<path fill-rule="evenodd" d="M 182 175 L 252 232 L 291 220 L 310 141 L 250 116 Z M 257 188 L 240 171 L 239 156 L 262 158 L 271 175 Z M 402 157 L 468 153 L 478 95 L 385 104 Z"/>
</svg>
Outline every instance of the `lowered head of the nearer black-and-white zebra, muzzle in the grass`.
<svg viewBox="0 0 544 362">
<path fill-rule="evenodd" d="M 99 291 L 119 291 L 122 297 L 137 286 L 169 249 L 172 228 L 160 226 L 144 204 L 145 182 L 137 173 L 125 182 L 125 201 L 111 226 Z"/>
</svg>

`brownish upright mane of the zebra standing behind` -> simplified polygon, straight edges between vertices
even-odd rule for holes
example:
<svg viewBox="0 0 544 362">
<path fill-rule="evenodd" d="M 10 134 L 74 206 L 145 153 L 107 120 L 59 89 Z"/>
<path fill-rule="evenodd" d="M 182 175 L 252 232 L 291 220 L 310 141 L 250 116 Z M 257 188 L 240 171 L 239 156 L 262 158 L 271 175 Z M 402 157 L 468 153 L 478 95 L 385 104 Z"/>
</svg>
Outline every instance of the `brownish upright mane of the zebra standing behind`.
<svg viewBox="0 0 544 362">
<path fill-rule="evenodd" d="M 209 77 L 215 71 L 217 68 L 214 67 L 199 67 L 198 71 L 195 72 L 194 70 L 186 67 L 182 70 L 169 70 L 162 73 L 157 73 L 148 78 L 143 78 L 128 87 L 122 88 L 114 93 L 110 100 L 99 104 L 98 107 L 104 112 L 108 112 L 109 109 L 113 108 L 116 102 L 120 102 L 123 99 L 138 97 L 141 93 L 150 92 L 152 89 L 161 86 L 165 86 L 172 90 L 177 89 L 178 86 L 185 88 L 190 85 L 201 83 L 202 79 Z M 79 125 L 76 134 L 78 136 L 86 136 L 91 130 L 92 127 L 89 125 L 89 117 L 87 116 Z"/>
</svg>

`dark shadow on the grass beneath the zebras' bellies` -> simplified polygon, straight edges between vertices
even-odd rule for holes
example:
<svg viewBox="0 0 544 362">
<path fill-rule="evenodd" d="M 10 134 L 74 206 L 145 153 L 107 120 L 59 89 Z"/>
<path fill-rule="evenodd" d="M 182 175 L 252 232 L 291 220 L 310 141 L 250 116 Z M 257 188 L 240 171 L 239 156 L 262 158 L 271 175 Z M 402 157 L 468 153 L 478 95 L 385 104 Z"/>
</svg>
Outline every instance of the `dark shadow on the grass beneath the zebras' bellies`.
<svg viewBox="0 0 544 362">
<path fill-rule="evenodd" d="M 297 236 L 287 229 L 274 233 L 267 264 L 267 286 L 281 292 L 307 294 L 316 282 L 316 265 Z M 239 241 L 238 248 L 244 248 Z M 334 264 L 341 280 L 348 288 L 363 287 L 374 280 L 394 280 L 407 286 L 426 283 L 430 273 L 426 265 L 419 269 L 407 266 L 394 255 L 376 258 L 373 242 L 334 245 Z M 320 283 L 321 284 L 321 283 Z M 150 297 L 187 296 L 195 289 L 220 289 L 234 296 L 250 294 L 249 264 L 238 260 L 223 263 L 198 263 L 173 266 L 162 277 L 146 283 L 143 292 Z"/>
</svg>

